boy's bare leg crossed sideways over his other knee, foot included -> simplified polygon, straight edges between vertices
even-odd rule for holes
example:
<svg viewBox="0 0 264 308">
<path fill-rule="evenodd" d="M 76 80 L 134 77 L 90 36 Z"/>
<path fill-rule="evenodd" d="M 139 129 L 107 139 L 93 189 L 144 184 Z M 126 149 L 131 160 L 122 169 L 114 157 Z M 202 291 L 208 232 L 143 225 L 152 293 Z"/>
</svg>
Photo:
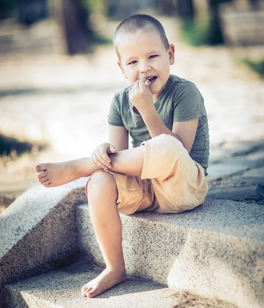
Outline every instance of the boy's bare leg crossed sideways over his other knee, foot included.
<svg viewBox="0 0 264 308">
<path fill-rule="evenodd" d="M 130 176 L 141 176 L 145 146 L 109 154 L 111 171 Z M 82 177 L 89 177 L 100 170 L 90 158 L 81 158 L 61 163 L 45 163 L 36 166 L 39 182 L 46 187 L 60 186 Z"/>
</svg>

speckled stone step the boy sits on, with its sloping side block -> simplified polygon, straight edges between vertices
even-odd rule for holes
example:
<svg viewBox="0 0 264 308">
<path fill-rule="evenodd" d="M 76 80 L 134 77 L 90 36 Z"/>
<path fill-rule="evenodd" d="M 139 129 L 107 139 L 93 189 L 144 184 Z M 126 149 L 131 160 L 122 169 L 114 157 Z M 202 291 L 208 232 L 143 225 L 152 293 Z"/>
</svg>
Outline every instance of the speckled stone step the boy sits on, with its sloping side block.
<svg viewBox="0 0 264 308">
<path fill-rule="evenodd" d="M 0 308 L 3 285 L 68 265 L 79 253 L 103 264 L 85 182 L 34 185 L 1 214 Z M 264 306 L 263 206 L 206 199 L 180 214 L 140 212 L 121 219 L 129 275 L 242 308 Z"/>
</svg>

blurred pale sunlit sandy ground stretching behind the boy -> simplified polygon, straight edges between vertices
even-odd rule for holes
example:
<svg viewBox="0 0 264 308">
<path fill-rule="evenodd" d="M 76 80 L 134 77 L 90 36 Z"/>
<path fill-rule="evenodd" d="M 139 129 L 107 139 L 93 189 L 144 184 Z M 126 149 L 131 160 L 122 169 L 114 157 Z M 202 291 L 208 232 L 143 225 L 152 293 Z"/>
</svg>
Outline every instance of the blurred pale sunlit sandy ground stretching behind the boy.
<svg viewBox="0 0 264 308">
<path fill-rule="evenodd" d="M 171 73 L 194 82 L 203 94 L 212 148 L 234 141 L 264 140 L 263 80 L 238 62 L 244 56 L 264 57 L 264 47 L 193 48 L 181 42 L 176 21 L 159 19 L 176 48 Z M 111 36 L 116 25 L 102 22 L 100 29 Z M 49 40 L 50 27 L 40 23 L 36 31 Z M 21 33 L 16 34 L 19 48 L 0 54 L 0 133 L 48 142 L 50 148 L 15 160 L 0 159 L 2 210 L 36 183 L 34 165 L 38 162 L 89 156 L 107 141 L 109 104 L 116 91 L 129 85 L 111 45 L 98 46 L 93 55 L 68 57 L 57 49 L 47 48 L 48 53 L 42 47 L 34 52 L 30 45 L 21 48 L 25 35 Z M 34 32 L 30 37 L 34 43 Z"/>
</svg>

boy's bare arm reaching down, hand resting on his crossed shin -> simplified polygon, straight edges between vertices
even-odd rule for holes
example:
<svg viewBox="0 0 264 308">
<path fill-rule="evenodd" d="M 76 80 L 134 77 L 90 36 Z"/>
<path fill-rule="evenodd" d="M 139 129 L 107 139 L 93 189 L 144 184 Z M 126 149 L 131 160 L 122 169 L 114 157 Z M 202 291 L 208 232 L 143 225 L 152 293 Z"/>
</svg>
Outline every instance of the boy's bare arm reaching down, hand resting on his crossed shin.
<svg viewBox="0 0 264 308">
<path fill-rule="evenodd" d="M 128 149 L 128 131 L 124 126 L 109 125 L 109 143 L 99 145 L 91 155 L 98 169 L 111 168 L 109 153 Z"/>
</svg>

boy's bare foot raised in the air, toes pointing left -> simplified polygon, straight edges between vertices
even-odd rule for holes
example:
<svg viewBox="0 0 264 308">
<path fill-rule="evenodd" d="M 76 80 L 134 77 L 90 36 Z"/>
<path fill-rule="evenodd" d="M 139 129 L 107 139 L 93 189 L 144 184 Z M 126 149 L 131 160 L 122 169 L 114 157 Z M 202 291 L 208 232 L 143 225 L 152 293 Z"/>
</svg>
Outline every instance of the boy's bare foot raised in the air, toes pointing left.
<svg viewBox="0 0 264 308">
<path fill-rule="evenodd" d="M 35 170 L 39 172 L 37 176 L 39 182 L 45 187 L 56 187 L 81 178 L 77 160 L 38 164 Z"/>
</svg>

